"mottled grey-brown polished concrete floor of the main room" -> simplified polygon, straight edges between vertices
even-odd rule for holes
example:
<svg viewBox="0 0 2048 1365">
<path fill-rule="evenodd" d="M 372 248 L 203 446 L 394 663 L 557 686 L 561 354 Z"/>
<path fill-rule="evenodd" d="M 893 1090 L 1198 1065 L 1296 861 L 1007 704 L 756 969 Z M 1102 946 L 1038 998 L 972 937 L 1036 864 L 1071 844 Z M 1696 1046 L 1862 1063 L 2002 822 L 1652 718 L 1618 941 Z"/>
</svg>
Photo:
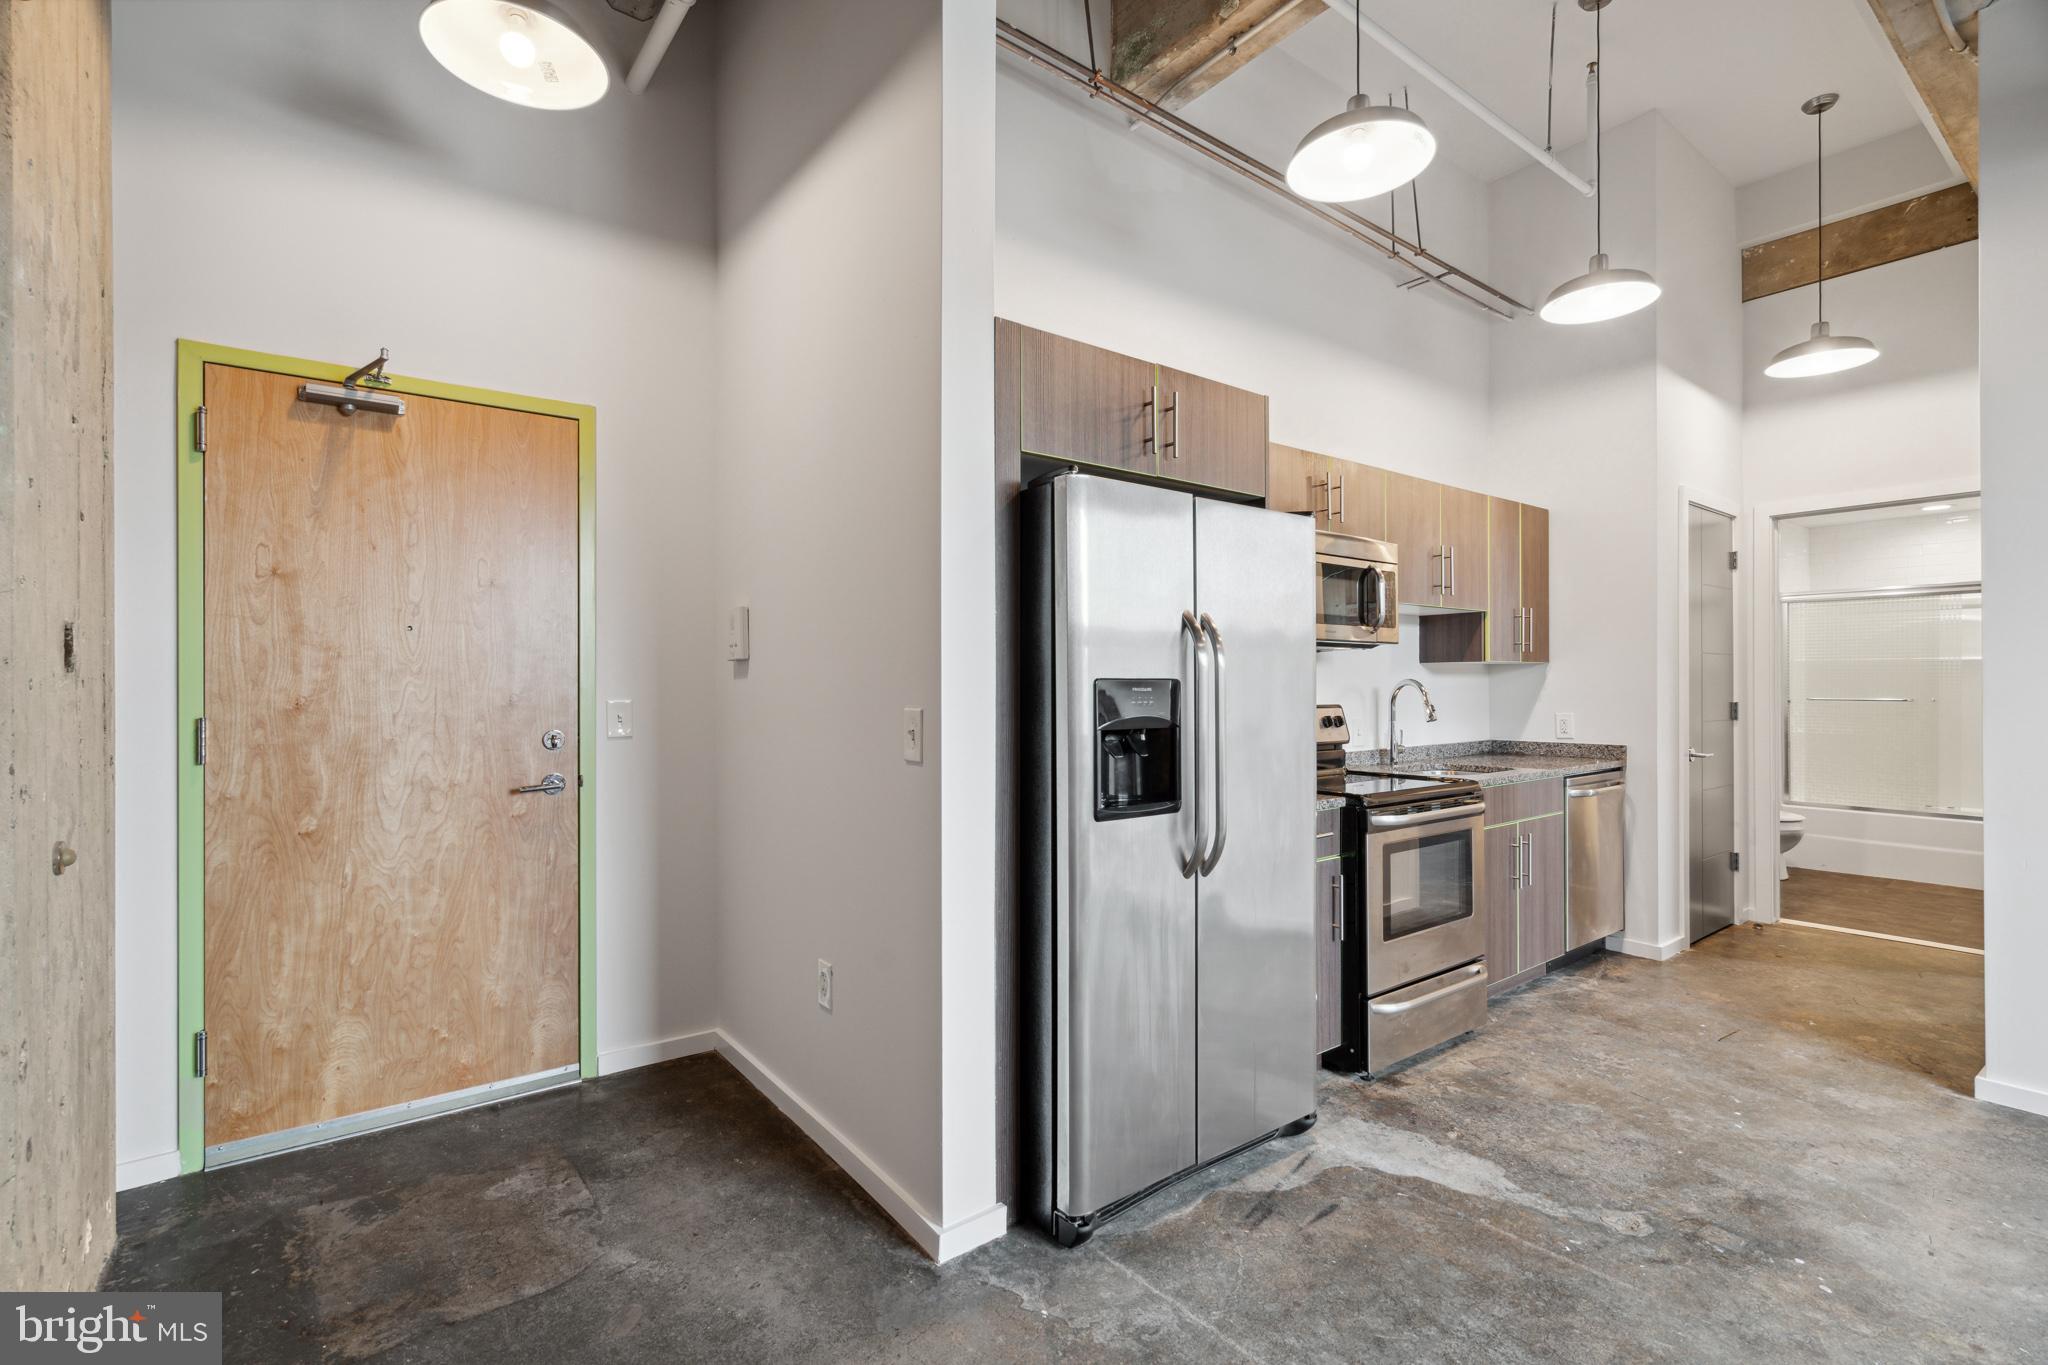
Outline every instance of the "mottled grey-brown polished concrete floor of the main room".
<svg viewBox="0 0 2048 1365">
<path fill-rule="evenodd" d="M 231 1361 L 2040 1361 L 2048 1119 L 1980 960 L 1595 958 L 1063 1252 L 932 1267 L 715 1056 L 121 1199 Z"/>
</svg>

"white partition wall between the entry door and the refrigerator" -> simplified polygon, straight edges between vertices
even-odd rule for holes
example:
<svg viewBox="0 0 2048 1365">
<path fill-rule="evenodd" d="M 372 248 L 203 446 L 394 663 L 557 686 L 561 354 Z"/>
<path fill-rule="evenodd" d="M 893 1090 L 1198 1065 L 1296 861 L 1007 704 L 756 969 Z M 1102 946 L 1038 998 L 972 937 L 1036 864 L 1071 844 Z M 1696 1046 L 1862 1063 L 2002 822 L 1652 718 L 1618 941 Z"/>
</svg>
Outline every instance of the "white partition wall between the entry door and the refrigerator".
<svg viewBox="0 0 2048 1365">
<path fill-rule="evenodd" d="M 971 170 L 993 65 L 967 51 L 991 43 L 993 12 L 780 0 L 721 20 L 717 602 L 754 622 L 752 661 L 713 698 L 721 1027 L 911 1236 L 952 1254 L 1004 1226 L 985 851 L 975 876 L 993 739 L 965 733 L 985 710 L 961 696 L 985 700 L 993 669 L 993 632 L 965 620 L 993 596 L 993 551 L 973 544 L 993 518 L 993 342 Z M 965 518 L 944 536 L 942 505 Z M 954 739 L 942 696 L 961 698 Z M 905 706 L 926 710 L 922 763 L 901 753 Z M 967 808 L 942 821 L 954 749 L 946 794 Z"/>
</svg>

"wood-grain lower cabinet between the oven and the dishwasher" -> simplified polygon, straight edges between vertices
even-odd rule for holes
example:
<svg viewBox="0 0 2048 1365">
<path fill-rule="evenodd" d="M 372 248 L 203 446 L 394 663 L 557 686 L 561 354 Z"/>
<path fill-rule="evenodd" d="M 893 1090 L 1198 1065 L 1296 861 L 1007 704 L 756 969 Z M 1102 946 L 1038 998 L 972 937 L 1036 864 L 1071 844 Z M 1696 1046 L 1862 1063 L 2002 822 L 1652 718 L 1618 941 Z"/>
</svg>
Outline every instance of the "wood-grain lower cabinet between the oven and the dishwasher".
<svg viewBox="0 0 2048 1365">
<path fill-rule="evenodd" d="M 1487 982 L 1499 990 L 1542 976 L 1565 952 L 1565 784 L 1493 786 L 1485 800 Z"/>
</svg>

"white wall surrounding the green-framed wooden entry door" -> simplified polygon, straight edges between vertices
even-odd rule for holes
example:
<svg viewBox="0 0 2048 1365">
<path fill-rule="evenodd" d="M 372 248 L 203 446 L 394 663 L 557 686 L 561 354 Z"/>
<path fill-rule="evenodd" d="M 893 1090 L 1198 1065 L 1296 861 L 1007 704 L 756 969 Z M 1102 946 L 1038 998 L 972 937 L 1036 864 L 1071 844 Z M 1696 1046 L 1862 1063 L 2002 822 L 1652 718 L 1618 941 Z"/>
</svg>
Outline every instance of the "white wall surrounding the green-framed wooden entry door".
<svg viewBox="0 0 2048 1365">
<path fill-rule="evenodd" d="M 418 4 L 115 4 L 117 1083 L 123 1183 L 176 1171 L 174 342 L 598 409 L 598 1048 L 715 1023 L 709 63 L 539 115 Z M 625 35 L 637 25 L 621 20 Z M 166 1166 L 168 1162 L 168 1166 Z"/>
</svg>

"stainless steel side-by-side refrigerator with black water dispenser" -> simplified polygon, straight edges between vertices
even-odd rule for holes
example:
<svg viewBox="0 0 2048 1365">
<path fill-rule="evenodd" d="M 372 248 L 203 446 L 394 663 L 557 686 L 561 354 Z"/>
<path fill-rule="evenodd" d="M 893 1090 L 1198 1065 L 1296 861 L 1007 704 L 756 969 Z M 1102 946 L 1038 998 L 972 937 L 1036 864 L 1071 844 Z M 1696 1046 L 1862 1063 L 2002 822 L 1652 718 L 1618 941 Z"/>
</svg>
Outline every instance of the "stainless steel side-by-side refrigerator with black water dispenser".
<svg viewBox="0 0 2048 1365">
<path fill-rule="evenodd" d="M 1024 1169 L 1063 1244 L 1315 1121 L 1315 528 L 1024 491 Z"/>
</svg>

